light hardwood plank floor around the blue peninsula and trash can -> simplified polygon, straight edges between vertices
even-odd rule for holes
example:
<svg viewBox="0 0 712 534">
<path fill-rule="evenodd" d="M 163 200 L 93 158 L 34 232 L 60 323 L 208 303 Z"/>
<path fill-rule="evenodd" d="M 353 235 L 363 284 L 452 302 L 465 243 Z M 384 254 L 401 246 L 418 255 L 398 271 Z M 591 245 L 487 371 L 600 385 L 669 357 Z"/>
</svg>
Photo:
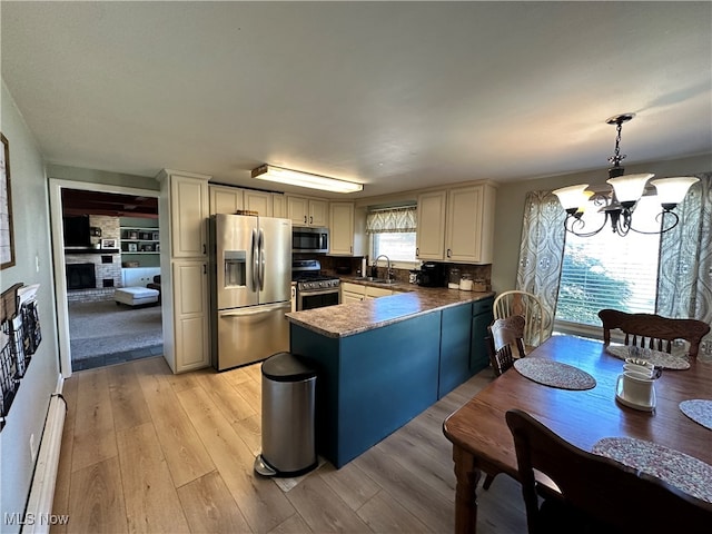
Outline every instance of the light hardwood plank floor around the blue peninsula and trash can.
<svg viewBox="0 0 712 534">
<path fill-rule="evenodd" d="M 172 375 L 161 357 L 76 373 L 52 532 L 414 533 L 454 531 L 445 417 L 492 379 L 485 369 L 340 469 L 289 491 L 254 474 L 260 367 Z M 483 534 L 526 532 L 516 482 L 479 492 Z"/>
</svg>

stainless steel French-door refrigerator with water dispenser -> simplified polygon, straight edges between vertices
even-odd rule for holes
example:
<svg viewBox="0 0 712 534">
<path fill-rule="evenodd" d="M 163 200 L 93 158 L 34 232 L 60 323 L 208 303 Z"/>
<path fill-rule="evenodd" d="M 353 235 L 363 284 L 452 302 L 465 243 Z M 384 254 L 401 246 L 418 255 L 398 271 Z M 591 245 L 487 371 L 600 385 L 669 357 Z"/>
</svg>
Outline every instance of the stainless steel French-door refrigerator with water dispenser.
<svg viewBox="0 0 712 534">
<path fill-rule="evenodd" d="M 210 218 L 212 366 L 218 370 L 289 349 L 291 221 Z"/>
</svg>

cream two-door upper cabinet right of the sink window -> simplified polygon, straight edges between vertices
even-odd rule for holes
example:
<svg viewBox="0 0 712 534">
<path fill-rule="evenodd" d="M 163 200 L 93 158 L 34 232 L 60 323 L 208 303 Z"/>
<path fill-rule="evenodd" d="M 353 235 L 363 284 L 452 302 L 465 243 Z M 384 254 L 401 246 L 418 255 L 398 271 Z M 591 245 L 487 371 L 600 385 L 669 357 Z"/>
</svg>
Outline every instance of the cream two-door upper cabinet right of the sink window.
<svg viewBox="0 0 712 534">
<path fill-rule="evenodd" d="M 418 258 L 491 264 L 496 189 L 491 184 L 418 197 Z"/>
</svg>

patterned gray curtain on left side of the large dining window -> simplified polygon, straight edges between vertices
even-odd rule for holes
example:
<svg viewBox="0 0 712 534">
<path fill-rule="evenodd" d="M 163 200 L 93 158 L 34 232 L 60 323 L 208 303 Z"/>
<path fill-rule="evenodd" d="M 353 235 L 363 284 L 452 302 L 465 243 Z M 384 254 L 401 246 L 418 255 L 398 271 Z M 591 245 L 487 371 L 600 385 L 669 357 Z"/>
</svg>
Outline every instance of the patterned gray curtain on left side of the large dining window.
<svg viewBox="0 0 712 534">
<path fill-rule="evenodd" d="M 530 191 L 524 202 L 516 288 L 536 295 L 542 301 L 544 338 L 547 338 L 554 329 L 566 211 L 552 191 Z"/>
</svg>

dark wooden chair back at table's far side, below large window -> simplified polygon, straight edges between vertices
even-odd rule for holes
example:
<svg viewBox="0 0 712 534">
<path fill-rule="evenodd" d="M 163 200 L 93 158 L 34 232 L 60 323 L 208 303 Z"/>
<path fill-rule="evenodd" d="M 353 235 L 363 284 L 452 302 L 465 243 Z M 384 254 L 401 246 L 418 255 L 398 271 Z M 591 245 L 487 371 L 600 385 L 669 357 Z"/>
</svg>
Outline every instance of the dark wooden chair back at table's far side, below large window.
<svg viewBox="0 0 712 534">
<path fill-rule="evenodd" d="M 611 330 L 621 329 L 625 334 L 625 345 L 647 347 L 665 353 L 672 352 L 672 342 L 684 339 L 690 343 L 691 358 L 698 356 L 700 342 L 710 332 L 710 325 L 696 319 L 672 319 L 653 314 L 627 314 L 617 309 L 602 309 L 599 317 L 603 323 L 603 343 L 611 344 Z"/>
</svg>

